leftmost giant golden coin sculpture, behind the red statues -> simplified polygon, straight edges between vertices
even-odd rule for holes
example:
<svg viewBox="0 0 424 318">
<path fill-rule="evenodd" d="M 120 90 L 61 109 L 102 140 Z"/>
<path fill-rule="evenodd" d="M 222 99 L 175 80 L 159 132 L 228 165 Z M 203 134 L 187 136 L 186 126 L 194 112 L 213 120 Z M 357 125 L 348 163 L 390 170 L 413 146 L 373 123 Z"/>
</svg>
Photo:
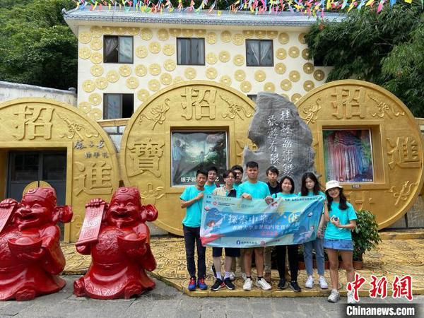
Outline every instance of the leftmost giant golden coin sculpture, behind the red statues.
<svg viewBox="0 0 424 318">
<path fill-rule="evenodd" d="M 66 151 L 66 204 L 73 208 L 73 220 L 65 225 L 64 240 L 76 242 L 86 203 L 109 199 L 118 187 L 117 154 L 109 136 L 82 110 L 47 98 L 4 102 L 0 119 L 2 167 L 7 166 L 7 151 Z M 3 189 L 5 179 L 0 181 Z"/>
</svg>

